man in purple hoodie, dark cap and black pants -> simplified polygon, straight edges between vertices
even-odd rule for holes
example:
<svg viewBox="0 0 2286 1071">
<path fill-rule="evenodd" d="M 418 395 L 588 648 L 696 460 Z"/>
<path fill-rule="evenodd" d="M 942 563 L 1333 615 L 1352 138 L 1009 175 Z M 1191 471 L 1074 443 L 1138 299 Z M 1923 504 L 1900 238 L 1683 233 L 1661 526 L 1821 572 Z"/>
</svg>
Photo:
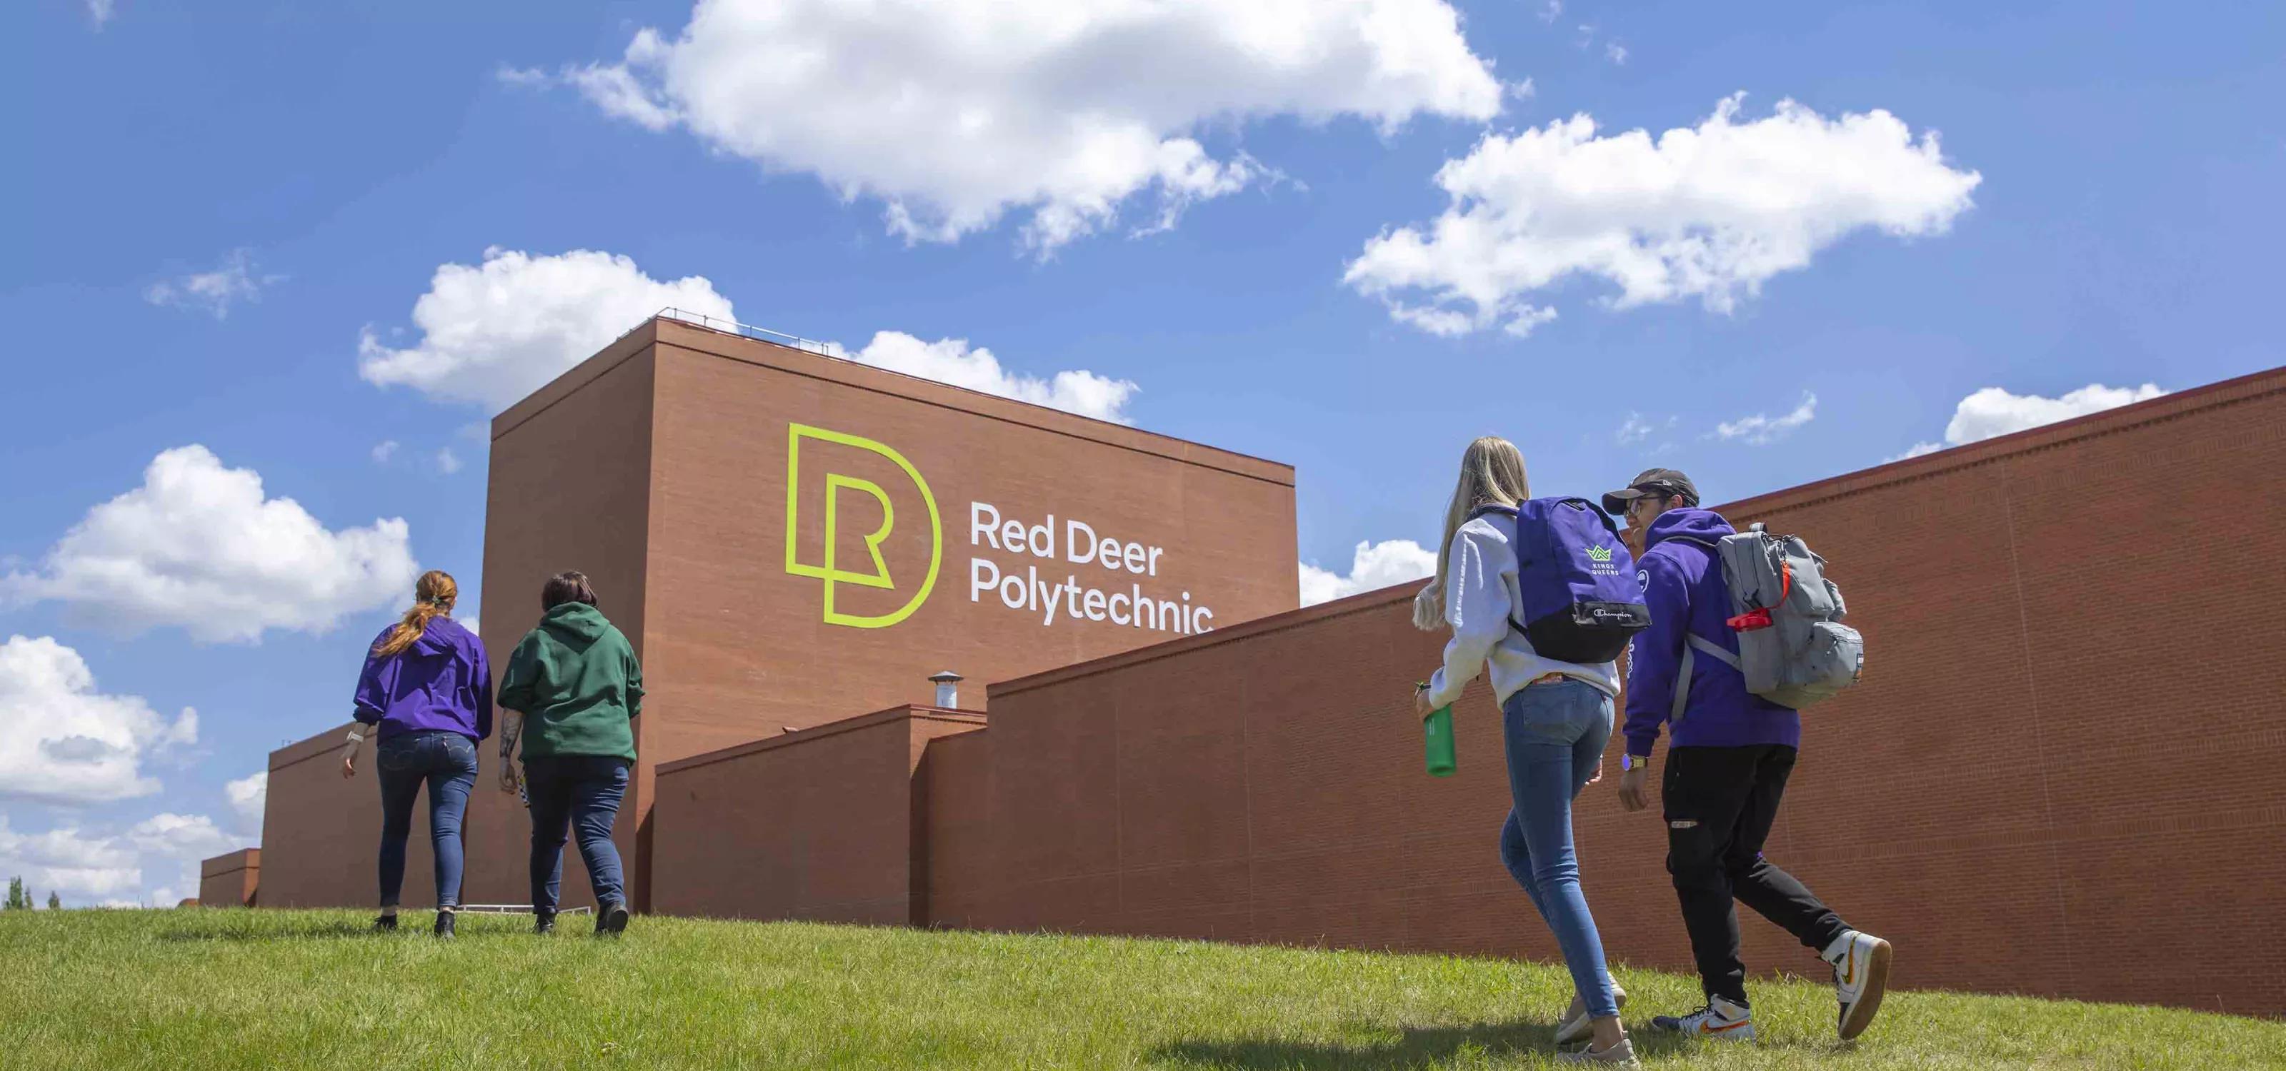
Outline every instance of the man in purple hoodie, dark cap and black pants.
<svg viewBox="0 0 2286 1071">
<path fill-rule="evenodd" d="M 1731 587 L 1714 543 L 1735 534 L 1731 521 L 1698 509 L 1698 486 L 1673 468 L 1653 468 L 1621 491 L 1602 496 L 1612 514 L 1644 528 L 1634 559 L 1650 628 L 1628 646 L 1628 754 L 1621 758 L 1618 799 L 1628 811 L 1650 806 L 1650 744 L 1673 722 L 1660 802 L 1666 818 L 1666 872 L 1682 900 L 1682 927 L 1705 1007 L 1687 1016 L 1655 1016 L 1653 1030 L 1751 1041 L 1747 966 L 1737 957 L 1737 902 L 1795 934 L 1833 964 L 1840 998 L 1836 1028 L 1852 1039 L 1872 1023 L 1888 987 L 1888 941 L 1843 923 L 1817 895 L 1772 861 L 1763 840 L 1779 818 L 1785 779 L 1801 747 L 1801 715 L 1747 692 L 1747 678 L 1717 658 L 1689 658 L 1685 701 L 1676 703 L 1685 671 L 1685 637 L 1701 637 L 1737 655 Z"/>
</svg>

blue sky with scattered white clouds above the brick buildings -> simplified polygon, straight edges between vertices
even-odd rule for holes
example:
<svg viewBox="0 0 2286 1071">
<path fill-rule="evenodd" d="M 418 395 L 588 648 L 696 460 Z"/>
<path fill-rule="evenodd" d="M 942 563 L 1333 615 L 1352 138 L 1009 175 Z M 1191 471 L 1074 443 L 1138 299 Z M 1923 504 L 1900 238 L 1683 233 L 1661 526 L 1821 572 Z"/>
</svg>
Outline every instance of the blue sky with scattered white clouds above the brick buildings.
<svg viewBox="0 0 2286 1071">
<path fill-rule="evenodd" d="M 1289 461 L 1317 594 L 1413 575 L 1477 434 L 1543 493 L 1726 500 L 2286 363 L 2279 5 L 706 7 L 0 14 L 0 870 L 149 900 L 251 843 L 226 786 L 345 717 L 405 557 L 475 607 L 485 395 L 645 279 Z M 1436 235 L 1447 162 L 1484 244 L 1372 253 Z M 89 514 L 187 445 L 190 498 Z"/>
</svg>

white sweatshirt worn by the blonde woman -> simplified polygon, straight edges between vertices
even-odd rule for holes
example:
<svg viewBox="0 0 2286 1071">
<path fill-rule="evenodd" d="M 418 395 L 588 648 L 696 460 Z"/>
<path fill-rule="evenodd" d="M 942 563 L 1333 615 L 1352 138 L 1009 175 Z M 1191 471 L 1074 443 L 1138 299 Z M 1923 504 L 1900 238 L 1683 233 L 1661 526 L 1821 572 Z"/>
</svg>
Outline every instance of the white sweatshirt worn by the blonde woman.
<svg viewBox="0 0 2286 1071">
<path fill-rule="evenodd" d="M 1493 696 L 1506 703 L 1511 694 L 1541 674 L 1566 674 L 1586 681 L 1607 696 L 1618 696 L 1618 662 L 1557 662 L 1532 651 L 1525 633 L 1509 626 L 1522 596 L 1516 589 L 1516 548 L 1509 546 L 1511 521 L 1486 514 L 1452 534 L 1452 557 L 1445 566 L 1445 667 L 1429 678 L 1429 706 L 1461 699 L 1461 690 L 1493 665 Z"/>
</svg>

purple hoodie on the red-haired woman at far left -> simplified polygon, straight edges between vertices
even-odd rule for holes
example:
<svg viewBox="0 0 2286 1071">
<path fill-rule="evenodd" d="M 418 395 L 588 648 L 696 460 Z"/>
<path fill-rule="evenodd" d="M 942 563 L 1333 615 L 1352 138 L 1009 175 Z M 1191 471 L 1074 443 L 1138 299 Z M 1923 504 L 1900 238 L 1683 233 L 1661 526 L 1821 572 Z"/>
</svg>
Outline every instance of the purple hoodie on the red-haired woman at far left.
<svg viewBox="0 0 2286 1071">
<path fill-rule="evenodd" d="M 366 671 L 357 676 L 357 719 L 379 724 L 379 738 L 446 728 L 469 740 L 491 735 L 491 665 L 475 633 L 450 617 L 437 617 L 395 655 L 373 653 L 398 626 L 366 646 Z"/>
</svg>

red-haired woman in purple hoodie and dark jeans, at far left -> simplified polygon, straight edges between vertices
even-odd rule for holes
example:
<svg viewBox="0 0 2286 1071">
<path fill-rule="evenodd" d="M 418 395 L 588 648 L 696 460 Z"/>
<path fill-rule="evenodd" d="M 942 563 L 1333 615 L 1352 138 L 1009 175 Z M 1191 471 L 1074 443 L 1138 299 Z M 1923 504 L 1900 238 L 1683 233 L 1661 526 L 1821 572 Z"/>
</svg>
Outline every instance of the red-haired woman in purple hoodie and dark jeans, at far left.
<svg viewBox="0 0 2286 1071">
<path fill-rule="evenodd" d="M 382 772 L 382 916 L 375 929 L 398 927 L 398 891 L 405 888 L 405 838 L 414 824 L 414 797 L 430 788 L 430 843 L 437 849 L 437 936 L 453 936 L 459 907 L 459 820 L 475 786 L 475 742 L 491 735 L 491 665 L 475 633 L 453 621 L 459 585 L 450 575 L 421 573 L 414 607 L 373 639 L 366 671 L 357 678 L 357 719 L 379 726 Z M 341 754 L 341 776 L 357 776 L 357 747 L 366 733 L 350 731 Z"/>
</svg>

